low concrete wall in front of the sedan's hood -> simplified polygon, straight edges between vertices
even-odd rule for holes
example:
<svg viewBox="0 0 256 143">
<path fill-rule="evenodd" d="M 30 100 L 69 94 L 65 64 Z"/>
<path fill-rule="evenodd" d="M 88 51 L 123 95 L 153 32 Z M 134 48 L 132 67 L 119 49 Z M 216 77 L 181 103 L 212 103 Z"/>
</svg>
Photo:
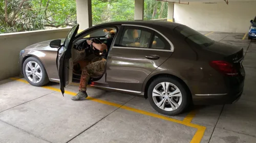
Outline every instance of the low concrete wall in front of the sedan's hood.
<svg viewBox="0 0 256 143">
<path fill-rule="evenodd" d="M 65 38 L 70 28 L 0 34 L 0 80 L 19 75 L 19 51 L 41 41 Z"/>
</svg>

